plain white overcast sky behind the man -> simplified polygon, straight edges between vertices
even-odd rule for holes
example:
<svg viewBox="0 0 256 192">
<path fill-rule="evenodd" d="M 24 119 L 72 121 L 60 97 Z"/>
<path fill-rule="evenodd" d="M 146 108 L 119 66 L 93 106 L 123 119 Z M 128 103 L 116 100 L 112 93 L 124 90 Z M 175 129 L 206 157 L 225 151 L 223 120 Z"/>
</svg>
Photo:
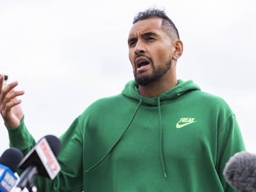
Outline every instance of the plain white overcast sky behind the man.
<svg viewBox="0 0 256 192">
<path fill-rule="evenodd" d="M 220 96 L 256 153 L 254 0 L 158 0 L 184 43 L 178 79 Z M 0 73 L 25 90 L 25 123 L 38 141 L 60 136 L 98 98 L 133 79 L 127 37 L 134 15 L 156 1 L 0 0 Z M 8 148 L 0 119 L 0 155 Z"/>
</svg>

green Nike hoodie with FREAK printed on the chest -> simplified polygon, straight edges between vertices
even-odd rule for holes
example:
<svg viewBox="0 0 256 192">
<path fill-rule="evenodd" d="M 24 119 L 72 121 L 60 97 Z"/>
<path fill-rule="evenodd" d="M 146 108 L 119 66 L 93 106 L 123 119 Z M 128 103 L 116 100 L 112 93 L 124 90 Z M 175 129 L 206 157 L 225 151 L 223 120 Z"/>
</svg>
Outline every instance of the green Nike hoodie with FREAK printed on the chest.
<svg viewBox="0 0 256 192">
<path fill-rule="evenodd" d="M 35 145 L 24 118 L 8 132 L 24 154 Z M 233 192 L 223 168 L 245 150 L 228 105 L 192 80 L 151 99 L 130 81 L 92 103 L 60 140 L 61 172 L 37 177 L 39 191 Z"/>
</svg>

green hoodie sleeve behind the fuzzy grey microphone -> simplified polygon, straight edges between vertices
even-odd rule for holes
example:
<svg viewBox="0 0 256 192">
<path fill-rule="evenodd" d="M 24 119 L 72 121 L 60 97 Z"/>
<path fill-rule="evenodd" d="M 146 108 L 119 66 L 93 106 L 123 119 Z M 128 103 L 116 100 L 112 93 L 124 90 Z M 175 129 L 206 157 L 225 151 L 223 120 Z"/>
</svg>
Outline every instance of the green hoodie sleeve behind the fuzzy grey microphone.
<svg viewBox="0 0 256 192">
<path fill-rule="evenodd" d="M 235 153 L 245 150 L 243 138 L 234 114 L 230 115 L 223 127 L 221 127 L 217 138 L 217 163 L 216 169 L 225 192 L 236 192 L 223 175 L 226 162 Z"/>
</svg>

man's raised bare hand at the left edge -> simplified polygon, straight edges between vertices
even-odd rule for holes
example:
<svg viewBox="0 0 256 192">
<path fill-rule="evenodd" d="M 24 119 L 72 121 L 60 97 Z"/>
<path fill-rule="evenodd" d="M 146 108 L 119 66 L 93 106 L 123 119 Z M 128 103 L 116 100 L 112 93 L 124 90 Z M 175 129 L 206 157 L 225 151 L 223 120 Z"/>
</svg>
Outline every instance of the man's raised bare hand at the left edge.
<svg viewBox="0 0 256 192">
<path fill-rule="evenodd" d="M 24 91 L 15 91 L 14 88 L 18 85 L 15 81 L 7 85 L 3 89 L 4 75 L 0 76 L 0 113 L 4 119 L 4 123 L 8 128 L 19 126 L 23 117 L 23 112 L 20 107 L 21 100 L 17 96 L 23 95 Z"/>
</svg>

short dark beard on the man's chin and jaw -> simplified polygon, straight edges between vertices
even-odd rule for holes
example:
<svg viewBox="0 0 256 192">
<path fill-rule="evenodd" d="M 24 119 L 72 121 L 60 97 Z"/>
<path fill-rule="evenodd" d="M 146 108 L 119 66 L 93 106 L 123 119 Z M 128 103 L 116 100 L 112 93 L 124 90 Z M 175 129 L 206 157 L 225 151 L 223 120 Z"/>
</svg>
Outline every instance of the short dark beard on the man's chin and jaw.
<svg viewBox="0 0 256 192">
<path fill-rule="evenodd" d="M 149 64 L 150 65 L 150 64 Z M 154 66 L 154 63 L 151 62 L 151 66 L 153 71 L 150 74 L 144 75 L 143 73 L 137 74 L 137 72 L 134 71 L 134 78 L 138 85 L 149 85 L 150 83 L 153 83 L 163 77 L 171 68 L 172 65 L 172 58 L 169 59 L 169 61 L 162 66 Z"/>
</svg>

